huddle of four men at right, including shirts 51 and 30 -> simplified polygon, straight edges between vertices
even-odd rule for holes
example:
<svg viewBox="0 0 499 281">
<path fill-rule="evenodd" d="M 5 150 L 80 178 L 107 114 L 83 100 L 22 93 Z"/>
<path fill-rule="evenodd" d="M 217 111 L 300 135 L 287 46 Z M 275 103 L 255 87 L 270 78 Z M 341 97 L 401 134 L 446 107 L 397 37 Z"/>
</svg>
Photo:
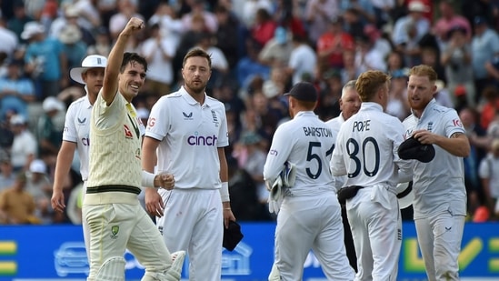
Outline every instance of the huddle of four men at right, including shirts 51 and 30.
<svg viewBox="0 0 499 281">
<path fill-rule="evenodd" d="M 430 66 L 410 70 L 412 115 L 404 122 L 384 113 L 390 76 L 381 71 L 344 85 L 342 113 L 326 123 L 313 112 L 314 85 L 299 83 L 285 94 L 292 120 L 274 134 L 264 178 L 275 186 L 287 166 L 296 178 L 294 186 L 281 185 L 269 198 L 281 203 L 273 207 L 278 216 L 269 280 L 302 280 L 303 266 L 296 265 L 304 264 L 311 249 L 328 280 L 397 280 L 403 236 L 397 187 L 407 182 L 428 280 L 459 280 L 463 157 L 470 146 L 456 111 L 434 100 L 436 78 Z M 304 127 L 324 129 L 299 134 Z M 351 231 L 356 261 L 347 259 L 344 227 Z"/>
</svg>

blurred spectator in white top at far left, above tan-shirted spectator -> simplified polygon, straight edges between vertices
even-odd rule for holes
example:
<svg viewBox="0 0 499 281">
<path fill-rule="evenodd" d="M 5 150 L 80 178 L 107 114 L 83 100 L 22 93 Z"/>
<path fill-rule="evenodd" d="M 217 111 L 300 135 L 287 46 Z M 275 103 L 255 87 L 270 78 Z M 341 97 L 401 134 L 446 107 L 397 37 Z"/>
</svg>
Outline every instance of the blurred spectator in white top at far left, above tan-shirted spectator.
<svg viewBox="0 0 499 281">
<path fill-rule="evenodd" d="M 36 147 L 38 147 L 38 144 L 35 135 L 29 131 L 26 118 L 23 115 L 12 116 L 10 118 L 10 126 L 14 133 L 14 141 L 11 148 L 12 166 L 14 166 L 15 173 L 27 171 L 29 164 L 36 157 Z"/>
</svg>

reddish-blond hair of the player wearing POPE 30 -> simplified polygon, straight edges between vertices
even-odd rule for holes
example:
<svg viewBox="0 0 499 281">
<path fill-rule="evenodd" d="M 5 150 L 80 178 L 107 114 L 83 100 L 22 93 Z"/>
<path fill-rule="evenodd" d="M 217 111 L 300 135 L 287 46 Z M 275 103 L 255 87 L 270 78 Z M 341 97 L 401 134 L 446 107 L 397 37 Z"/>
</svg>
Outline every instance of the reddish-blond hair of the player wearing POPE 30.
<svg viewBox="0 0 499 281">
<path fill-rule="evenodd" d="M 357 78 L 355 90 L 357 90 L 363 102 L 369 102 L 373 100 L 379 88 L 386 84 L 386 82 L 389 82 L 390 79 L 390 75 L 382 71 L 368 70 Z"/>
</svg>

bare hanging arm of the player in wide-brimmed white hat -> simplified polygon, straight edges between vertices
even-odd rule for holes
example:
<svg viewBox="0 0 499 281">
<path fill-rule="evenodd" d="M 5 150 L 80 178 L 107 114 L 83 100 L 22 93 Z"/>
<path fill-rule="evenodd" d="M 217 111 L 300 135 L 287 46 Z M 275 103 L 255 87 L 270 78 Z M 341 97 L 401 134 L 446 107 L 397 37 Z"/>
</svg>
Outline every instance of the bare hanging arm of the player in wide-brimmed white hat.
<svg viewBox="0 0 499 281">
<path fill-rule="evenodd" d="M 65 177 L 69 173 L 73 156 L 75 155 L 76 143 L 63 141 L 59 153 L 57 154 L 57 161 L 55 162 L 55 176 L 54 186 L 52 190 L 52 199 L 50 200 L 52 208 L 58 212 L 64 212 L 65 209 L 65 196 L 63 187 Z"/>
</svg>

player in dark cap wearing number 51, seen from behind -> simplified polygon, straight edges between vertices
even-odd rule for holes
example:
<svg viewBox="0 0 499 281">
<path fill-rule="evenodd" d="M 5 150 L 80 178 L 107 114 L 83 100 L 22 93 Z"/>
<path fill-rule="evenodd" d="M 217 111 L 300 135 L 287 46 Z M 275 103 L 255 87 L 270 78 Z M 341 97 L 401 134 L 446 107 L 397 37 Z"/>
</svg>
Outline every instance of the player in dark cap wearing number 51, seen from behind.
<svg viewBox="0 0 499 281">
<path fill-rule="evenodd" d="M 329 280 L 353 280 L 354 269 L 344 250 L 341 206 L 329 172 L 336 134 L 314 114 L 314 85 L 298 83 L 285 95 L 292 120 L 275 130 L 264 179 L 274 183 L 286 163 L 295 166 L 296 178 L 294 186 L 285 188 L 277 215 L 269 280 L 302 280 L 310 249 Z"/>
</svg>

